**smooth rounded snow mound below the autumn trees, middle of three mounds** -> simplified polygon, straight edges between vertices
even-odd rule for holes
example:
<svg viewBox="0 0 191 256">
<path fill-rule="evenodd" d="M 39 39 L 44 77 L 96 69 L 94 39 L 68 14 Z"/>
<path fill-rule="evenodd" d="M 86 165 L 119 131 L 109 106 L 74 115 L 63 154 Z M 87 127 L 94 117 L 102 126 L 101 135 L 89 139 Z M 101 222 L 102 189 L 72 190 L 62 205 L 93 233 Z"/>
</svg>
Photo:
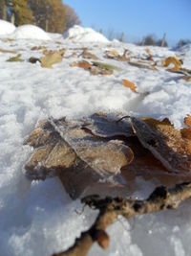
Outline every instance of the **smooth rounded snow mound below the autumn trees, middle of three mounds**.
<svg viewBox="0 0 191 256">
<path fill-rule="evenodd" d="M 14 39 L 51 40 L 51 37 L 45 31 L 34 25 L 17 27 L 11 37 Z"/>
</svg>

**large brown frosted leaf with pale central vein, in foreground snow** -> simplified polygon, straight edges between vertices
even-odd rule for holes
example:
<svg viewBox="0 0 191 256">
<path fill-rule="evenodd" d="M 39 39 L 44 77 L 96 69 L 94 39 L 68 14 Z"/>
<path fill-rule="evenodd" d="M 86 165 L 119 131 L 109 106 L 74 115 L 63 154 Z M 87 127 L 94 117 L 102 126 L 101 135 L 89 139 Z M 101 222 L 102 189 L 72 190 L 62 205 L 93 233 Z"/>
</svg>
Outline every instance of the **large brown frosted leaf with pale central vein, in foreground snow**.
<svg viewBox="0 0 191 256">
<path fill-rule="evenodd" d="M 97 115 L 96 130 L 99 130 L 98 120 Z M 101 121 L 100 118 L 102 124 Z M 72 198 L 79 197 L 100 179 L 105 184 L 110 183 L 121 167 L 131 163 L 134 154 L 117 138 L 106 140 L 94 135 L 91 127 L 85 128 L 87 122 L 93 125 L 94 120 L 67 121 L 63 118 L 39 123 L 26 141 L 35 149 L 25 166 L 26 175 L 32 179 L 58 175 Z M 130 124 L 125 124 L 116 124 L 115 128 L 121 132 L 126 126 L 128 130 Z M 100 130 L 104 132 L 102 126 Z"/>
</svg>

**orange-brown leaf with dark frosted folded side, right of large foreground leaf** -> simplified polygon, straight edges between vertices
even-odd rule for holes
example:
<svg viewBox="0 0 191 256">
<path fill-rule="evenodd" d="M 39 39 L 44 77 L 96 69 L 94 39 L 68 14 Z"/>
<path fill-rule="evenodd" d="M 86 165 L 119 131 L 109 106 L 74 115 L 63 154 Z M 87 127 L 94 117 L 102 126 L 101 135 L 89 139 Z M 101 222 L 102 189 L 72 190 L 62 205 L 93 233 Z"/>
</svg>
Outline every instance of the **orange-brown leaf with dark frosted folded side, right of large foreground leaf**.
<svg viewBox="0 0 191 256">
<path fill-rule="evenodd" d="M 133 129 L 143 147 L 152 151 L 169 172 L 191 175 L 190 140 L 182 137 L 168 119 L 131 118 Z"/>
</svg>

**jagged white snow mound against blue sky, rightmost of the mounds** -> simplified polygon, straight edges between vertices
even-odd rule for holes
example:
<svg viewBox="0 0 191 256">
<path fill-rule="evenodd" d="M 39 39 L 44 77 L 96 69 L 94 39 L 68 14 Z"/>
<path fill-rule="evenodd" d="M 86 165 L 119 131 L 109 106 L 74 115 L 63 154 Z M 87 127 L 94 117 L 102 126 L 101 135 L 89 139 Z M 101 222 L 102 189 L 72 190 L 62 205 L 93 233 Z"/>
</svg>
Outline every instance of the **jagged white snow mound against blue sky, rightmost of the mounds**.
<svg viewBox="0 0 191 256">
<path fill-rule="evenodd" d="M 69 29 L 65 34 L 64 38 L 73 40 L 76 42 L 101 42 L 108 43 L 108 39 L 96 32 L 91 28 L 83 28 L 79 25 L 74 25 L 73 28 Z"/>
</svg>

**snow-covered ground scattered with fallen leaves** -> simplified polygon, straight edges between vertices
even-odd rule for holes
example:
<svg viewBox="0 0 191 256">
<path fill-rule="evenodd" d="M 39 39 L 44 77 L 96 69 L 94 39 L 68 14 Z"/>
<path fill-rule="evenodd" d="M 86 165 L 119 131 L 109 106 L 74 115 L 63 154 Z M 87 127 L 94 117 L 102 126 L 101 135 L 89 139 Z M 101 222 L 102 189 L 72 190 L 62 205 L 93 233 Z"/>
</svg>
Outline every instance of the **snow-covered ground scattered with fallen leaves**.
<svg viewBox="0 0 191 256">
<path fill-rule="evenodd" d="M 26 34 L 25 34 L 26 35 Z M 176 127 L 191 112 L 191 83 L 178 79 L 180 75 L 140 69 L 127 62 L 104 58 L 106 50 L 124 49 L 138 58 L 146 57 L 145 47 L 133 44 L 103 42 L 87 39 L 80 42 L 52 36 L 52 40 L 15 39 L 13 34 L 0 39 L 0 49 L 14 50 L 16 54 L 0 51 L 0 251 L 4 256 L 51 255 L 66 249 L 74 238 L 86 230 L 96 218 L 88 209 L 79 214 L 82 204 L 65 193 L 58 178 L 29 181 L 24 175 L 24 165 L 32 153 L 23 142 L 44 117 L 88 116 L 96 111 L 122 111 L 135 116 L 168 117 Z M 8 39 L 8 37 L 10 39 Z M 94 40 L 95 41 L 95 40 Z M 32 64 L 30 57 L 39 58 L 42 50 L 66 48 L 62 62 L 52 69 Z M 89 71 L 71 67 L 82 48 L 87 47 L 99 61 L 118 67 L 112 76 L 94 76 Z M 150 47 L 157 59 L 180 55 L 184 65 L 191 66 L 191 47 L 173 52 L 170 49 Z M 23 62 L 7 62 L 20 54 Z M 73 55 L 73 56 L 72 56 Z M 70 57 L 71 58 L 67 58 Z M 81 57 L 79 57 L 80 59 Z M 122 85 L 122 79 L 136 83 L 138 93 Z M 132 196 L 147 197 L 154 189 L 155 179 L 137 177 Z M 139 216 L 130 221 L 119 219 L 109 229 L 111 244 L 103 251 L 97 244 L 91 256 L 153 256 L 190 255 L 191 206 L 183 203 L 176 211 Z"/>
</svg>

